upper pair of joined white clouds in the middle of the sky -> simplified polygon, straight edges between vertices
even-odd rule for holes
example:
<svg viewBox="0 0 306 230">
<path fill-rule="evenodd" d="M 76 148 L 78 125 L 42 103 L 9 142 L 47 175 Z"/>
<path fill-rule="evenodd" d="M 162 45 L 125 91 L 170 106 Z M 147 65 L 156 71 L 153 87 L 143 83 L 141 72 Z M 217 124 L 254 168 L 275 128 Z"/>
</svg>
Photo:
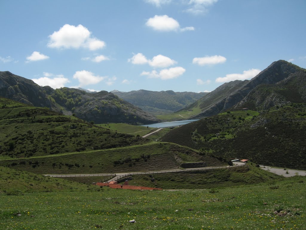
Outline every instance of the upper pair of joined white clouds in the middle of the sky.
<svg viewBox="0 0 306 230">
<path fill-rule="evenodd" d="M 132 58 L 128 59 L 128 62 L 138 65 L 148 63 L 151 67 L 154 68 L 166 68 L 177 63 L 175 60 L 172 60 L 171 58 L 161 54 L 154 56 L 150 60 L 147 59 L 146 56 L 144 56 L 142 53 L 135 54 Z"/>
</svg>

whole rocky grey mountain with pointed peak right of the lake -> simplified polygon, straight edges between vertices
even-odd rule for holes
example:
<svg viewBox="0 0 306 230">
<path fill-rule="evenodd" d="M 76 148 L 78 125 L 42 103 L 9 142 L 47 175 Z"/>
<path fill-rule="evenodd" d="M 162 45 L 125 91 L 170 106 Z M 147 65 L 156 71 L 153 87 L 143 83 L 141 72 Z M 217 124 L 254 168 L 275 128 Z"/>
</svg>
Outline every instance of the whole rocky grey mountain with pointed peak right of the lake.
<svg viewBox="0 0 306 230">
<path fill-rule="evenodd" d="M 200 110 L 200 113 L 192 116 L 193 118 L 200 118 L 225 112 L 231 108 L 248 107 L 259 110 L 290 103 L 296 97 L 305 98 L 304 85 L 297 84 L 300 80 L 305 82 L 304 71 L 303 68 L 292 63 L 278 60 L 271 63 L 251 80 L 235 80 L 224 83 L 192 105 L 177 111 L 177 113 Z M 296 78 L 300 80 L 296 80 Z M 284 84 L 287 84 L 289 88 L 273 91 L 277 87 L 280 89 Z"/>
</svg>

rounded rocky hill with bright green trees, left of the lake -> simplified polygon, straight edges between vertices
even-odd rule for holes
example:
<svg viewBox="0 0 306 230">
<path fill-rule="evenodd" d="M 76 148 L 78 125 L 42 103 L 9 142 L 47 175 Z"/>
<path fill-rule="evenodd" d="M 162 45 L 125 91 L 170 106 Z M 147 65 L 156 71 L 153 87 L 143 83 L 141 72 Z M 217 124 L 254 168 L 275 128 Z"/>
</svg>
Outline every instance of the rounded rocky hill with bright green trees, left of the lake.
<svg viewBox="0 0 306 230">
<path fill-rule="evenodd" d="M 116 122 L 148 124 L 159 120 L 138 107 L 107 91 L 86 93 L 83 90 L 61 88 L 50 94 L 66 111 L 95 123 Z"/>
</svg>

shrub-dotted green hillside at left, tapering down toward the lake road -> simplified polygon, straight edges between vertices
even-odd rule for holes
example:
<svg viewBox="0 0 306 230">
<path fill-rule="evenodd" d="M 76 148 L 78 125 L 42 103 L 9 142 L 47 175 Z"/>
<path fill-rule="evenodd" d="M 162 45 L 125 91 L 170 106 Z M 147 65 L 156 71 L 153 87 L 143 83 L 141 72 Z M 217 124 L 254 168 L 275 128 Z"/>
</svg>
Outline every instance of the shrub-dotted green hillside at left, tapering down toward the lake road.
<svg viewBox="0 0 306 230">
<path fill-rule="evenodd" d="M 146 140 L 117 134 L 73 116 L 0 98 L 0 155 L 29 157 L 107 149 Z"/>
</svg>

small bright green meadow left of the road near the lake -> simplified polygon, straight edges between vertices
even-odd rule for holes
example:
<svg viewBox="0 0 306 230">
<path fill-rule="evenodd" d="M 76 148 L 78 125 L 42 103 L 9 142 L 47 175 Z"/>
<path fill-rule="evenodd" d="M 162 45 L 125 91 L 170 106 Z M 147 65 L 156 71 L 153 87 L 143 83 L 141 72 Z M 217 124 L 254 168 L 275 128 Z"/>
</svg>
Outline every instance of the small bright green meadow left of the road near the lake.
<svg viewBox="0 0 306 230">
<path fill-rule="evenodd" d="M 103 128 L 108 128 L 113 131 L 118 131 L 122 133 L 128 133 L 133 136 L 144 136 L 154 130 L 156 128 L 147 128 L 145 126 L 140 126 L 140 125 L 128 125 L 124 123 L 109 123 L 109 124 L 99 124 L 97 126 L 103 127 Z"/>
</svg>

